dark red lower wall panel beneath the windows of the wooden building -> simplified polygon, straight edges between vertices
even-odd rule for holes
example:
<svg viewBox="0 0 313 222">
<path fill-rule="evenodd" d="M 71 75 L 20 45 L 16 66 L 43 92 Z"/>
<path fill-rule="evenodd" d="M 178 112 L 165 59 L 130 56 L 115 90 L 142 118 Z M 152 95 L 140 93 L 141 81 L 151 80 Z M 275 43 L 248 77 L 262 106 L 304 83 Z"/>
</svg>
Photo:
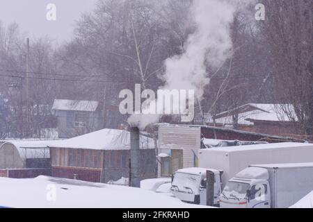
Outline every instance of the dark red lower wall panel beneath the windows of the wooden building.
<svg viewBox="0 0 313 222">
<path fill-rule="evenodd" d="M 74 174 L 77 174 L 77 180 L 100 182 L 101 169 L 80 169 L 78 167 L 51 167 L 51 176 L 56 178 L 74 179 Z"/>
</svg>

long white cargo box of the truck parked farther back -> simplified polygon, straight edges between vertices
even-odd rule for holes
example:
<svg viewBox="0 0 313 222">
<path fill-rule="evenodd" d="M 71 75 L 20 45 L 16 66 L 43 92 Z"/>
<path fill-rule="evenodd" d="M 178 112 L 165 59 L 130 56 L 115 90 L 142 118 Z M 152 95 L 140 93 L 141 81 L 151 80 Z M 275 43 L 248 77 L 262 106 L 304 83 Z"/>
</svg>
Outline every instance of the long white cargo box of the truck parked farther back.
<svg viewBox="0 0 313 222">
<path fill-rule="evenodd" d="M 222 189 L 250 164 L 313 162 L 313 144 L 278 143 L 208 148 L 199 151 L 199 167 L 223 171 Z"/>
</svg>

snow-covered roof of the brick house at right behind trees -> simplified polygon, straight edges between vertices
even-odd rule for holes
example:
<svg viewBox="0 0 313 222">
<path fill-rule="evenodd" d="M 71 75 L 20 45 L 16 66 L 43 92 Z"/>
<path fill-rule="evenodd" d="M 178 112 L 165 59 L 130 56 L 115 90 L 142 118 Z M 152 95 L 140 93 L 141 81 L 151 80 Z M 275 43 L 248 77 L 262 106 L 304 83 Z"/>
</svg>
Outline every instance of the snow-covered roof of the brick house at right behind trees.
<svg viewBox="0 0 313 222">
<path fill-rule="evenodd" d="M 216 115 L 216 123 L 223 125 L 232 124 L 232 115 L 238 113 L 238 123 L 242 125 L 253 125 L 253 120 L 256 121 L 290 121 L 287 114 L 282 111 L 281 106 L 288 107 L 292 116 L 296 119 L 294 109 L 291 105 L 284 104 L 261 104 L 248 103 L 234 110 L 227 110 Z"/>
</svg>

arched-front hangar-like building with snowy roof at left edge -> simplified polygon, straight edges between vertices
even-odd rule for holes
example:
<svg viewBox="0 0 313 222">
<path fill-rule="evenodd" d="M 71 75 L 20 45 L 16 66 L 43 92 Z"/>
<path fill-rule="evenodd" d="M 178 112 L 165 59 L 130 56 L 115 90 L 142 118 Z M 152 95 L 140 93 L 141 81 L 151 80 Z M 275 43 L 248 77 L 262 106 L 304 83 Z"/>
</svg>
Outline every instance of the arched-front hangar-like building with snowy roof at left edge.
<svg viewBox="0 0 313 222">
<path fill-rule="evenodd" d="M 8 178 L 34 178 L 51 174 L 51 140 L 12 140 L 0 146 L 0 176 Z"/>
</svg>

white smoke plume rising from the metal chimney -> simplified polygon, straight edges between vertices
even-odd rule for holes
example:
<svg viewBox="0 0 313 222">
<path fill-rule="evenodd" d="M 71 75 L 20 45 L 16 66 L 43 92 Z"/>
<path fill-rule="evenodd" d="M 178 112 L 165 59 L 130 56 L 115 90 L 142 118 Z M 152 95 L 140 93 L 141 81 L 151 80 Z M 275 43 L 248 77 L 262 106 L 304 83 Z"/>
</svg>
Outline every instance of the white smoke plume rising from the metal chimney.
<svg viewBox="0 0 313 222">
<path fill-rule="evenodd" d="M 166 60 L 166 84 L 161 89 L 194 89 L 198 101 L 209 84 L 207 67 L 220 67 L 232 56 L 230 25 L 236 6 L 231 0 L 195 0 L 191 8 L 195 32 L 189 35 L 184 53 Z M 145 128 L 157 122 L 158 115 L 134 114 L 129 123 Z"/>
</svg>

